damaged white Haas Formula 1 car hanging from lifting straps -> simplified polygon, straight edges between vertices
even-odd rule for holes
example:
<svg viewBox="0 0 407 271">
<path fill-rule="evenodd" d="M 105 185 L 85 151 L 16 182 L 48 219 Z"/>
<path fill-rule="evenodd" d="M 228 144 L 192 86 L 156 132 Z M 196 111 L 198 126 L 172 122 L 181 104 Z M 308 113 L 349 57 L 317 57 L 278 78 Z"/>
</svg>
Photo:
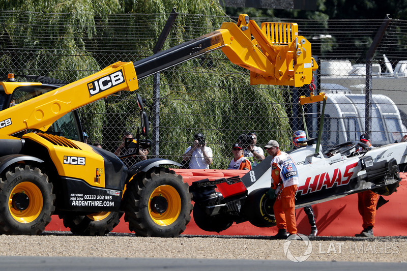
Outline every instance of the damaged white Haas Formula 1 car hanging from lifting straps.
<svg viewBox="0 0 407 271">
<path fill-rule="evenodd" d="M 309 99 L 311 97 L 313 99 Z M 366 148 L 367 145 L 360 141 L 350 141 L 322 152 L 319 150 L 319 142 L 326 96 L 322 93 L 311 97 L 301 97 L 300 103 L 303 105 L 315 100 L 323 102 L 318 138 L 309 139 L 308 146 L 287 152 L 299 172 L 296 208 L 365 190 L 380 195 L 395 192 L 401 180 L 399 170 L 404 170 L 407 163 L 407 142 L 357 153 L 354 152 L 356 147 Z M 275 226 L 275 199 L 269 199 L 267 195 L 271 185 L 271 160 L 271 156 L 266 157 L 242 177 L 213 181 L 203 179 L 192 183 L 190 192 L 195 202 L 193 217 L 198 227 L 220 232 L 233 222 L 245 221 L 257 227 Z"/>
</svg>

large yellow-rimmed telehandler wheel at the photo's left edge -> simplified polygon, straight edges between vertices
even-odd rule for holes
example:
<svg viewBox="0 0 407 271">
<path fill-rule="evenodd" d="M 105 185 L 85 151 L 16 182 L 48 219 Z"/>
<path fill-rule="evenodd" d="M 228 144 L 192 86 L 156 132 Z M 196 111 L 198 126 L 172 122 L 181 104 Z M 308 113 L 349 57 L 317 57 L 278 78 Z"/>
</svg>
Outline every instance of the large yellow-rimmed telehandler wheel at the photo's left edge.
<svg viewBox="0 0 407 271">
<path fill-rule="evenodd" d="M 37 167 L 20 165 L 2 174 L 0 233 L 35 235 L 44 231 L 55 210 L 52 189 L 48 176 Z"/>
</svg>

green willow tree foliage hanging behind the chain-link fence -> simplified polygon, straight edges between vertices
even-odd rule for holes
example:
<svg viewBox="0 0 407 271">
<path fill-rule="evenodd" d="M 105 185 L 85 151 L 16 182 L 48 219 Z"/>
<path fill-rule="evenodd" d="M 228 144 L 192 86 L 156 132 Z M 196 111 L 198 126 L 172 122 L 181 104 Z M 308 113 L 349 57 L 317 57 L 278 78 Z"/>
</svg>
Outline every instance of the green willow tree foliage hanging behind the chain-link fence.
<svg viewBox="0 0 407 271">
<path fill-rule="evenodd" d="M 38 74 L 75 81 L 117 61 L 139 61 L 153 48 L 173 7 L 180 13 L 162 50 L 231 21 L 215 0 L 5 1 L 2 12 L 2 73 Z M 16 53 L 18 52 L 18 53 Z M 214 150 L 213 168 L 225 168 L 230 145 L 256 131 L 259 143 L 288 144 L 290 128 L 283 89 L 250 86 L 246 70 L 220 52 L 161 72 L 160 156 L 180 160 L 192 135 L 204 131 Z M 151 103 L 153 77 L 137 92 Z M 139 125 L 134 95 L 122 92 L 83 109 L 86 132 L 114 151 L 125 130 Z M 151 137 L 151 134 L 150 134 Z M 227 158 L 227 159 L 225 159 Z"/>
</svg>

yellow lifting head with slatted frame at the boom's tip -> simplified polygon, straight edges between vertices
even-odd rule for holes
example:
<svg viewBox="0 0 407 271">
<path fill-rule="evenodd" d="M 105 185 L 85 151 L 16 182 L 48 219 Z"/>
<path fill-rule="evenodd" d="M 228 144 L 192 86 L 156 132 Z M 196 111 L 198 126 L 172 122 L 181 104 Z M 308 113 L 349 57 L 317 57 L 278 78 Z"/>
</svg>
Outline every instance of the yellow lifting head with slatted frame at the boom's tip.
<svg viewBox="0 0 407 271">
<path fill-rule="evenodd" d="M 298 36 L 298 25 L 266 22 L 260 28 L 248 18 L 241 14 L 236 24 L 223 23 L 218 31 L 225 44 L 223 53 L 232 63 L 250 70 L 250 83 L 309 84 L 318 65 L 311 56 L 311 44 Z"/>
</svg>

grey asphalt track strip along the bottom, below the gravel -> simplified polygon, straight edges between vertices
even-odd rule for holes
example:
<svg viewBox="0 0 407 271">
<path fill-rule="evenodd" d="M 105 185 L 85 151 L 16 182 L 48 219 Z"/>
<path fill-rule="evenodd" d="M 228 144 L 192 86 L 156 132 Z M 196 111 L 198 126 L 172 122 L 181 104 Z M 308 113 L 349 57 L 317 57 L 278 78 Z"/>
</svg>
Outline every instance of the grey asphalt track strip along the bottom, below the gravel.
<svg viewBox="0 0 407 271">
<path fill-rule="evenodd" d="M 377 262 L 315 262 L 217 260 L 217 259 L 162 259 L 162 258 L 85 258 L 85 257 L 0 257 L 0 270 L 98 270 L 98 271 L 240 271 L 240 270 L 405 270 L 405 263 Z"/>
</svg>

